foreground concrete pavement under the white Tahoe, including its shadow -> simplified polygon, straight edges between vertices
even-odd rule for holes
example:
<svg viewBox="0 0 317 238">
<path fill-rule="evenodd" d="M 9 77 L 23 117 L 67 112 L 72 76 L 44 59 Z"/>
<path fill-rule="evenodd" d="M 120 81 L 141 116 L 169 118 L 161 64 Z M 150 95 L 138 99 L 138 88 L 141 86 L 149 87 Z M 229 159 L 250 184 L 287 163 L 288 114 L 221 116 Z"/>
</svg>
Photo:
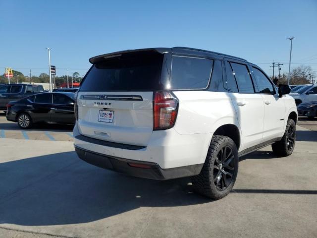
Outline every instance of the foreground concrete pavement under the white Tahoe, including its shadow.
<svg viewBox="0 0 317 238">
<path fill-rule="evenodd" d="M 18 145 L 18 149 L 17 149 Z M 137 179 L 79 160 L 72 142 L 0 139 L 0 237 L 317 237 L 317 132 L 294 153 L 242 158 L 217 201 L 189 179 Z"/>
</svg>

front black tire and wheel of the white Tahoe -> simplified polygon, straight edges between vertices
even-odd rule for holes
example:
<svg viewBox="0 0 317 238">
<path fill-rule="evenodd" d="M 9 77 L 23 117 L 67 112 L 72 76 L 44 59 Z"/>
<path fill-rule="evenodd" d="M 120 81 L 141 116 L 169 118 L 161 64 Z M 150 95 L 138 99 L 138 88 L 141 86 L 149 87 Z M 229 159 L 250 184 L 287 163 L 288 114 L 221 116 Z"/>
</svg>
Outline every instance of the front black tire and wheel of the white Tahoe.
<svg viewBox="0 0 317 238">
<path fill-rule="evenodd" d="M 293 119 L 288 119 L 284 135 L 280 141 L 272 144 L 274 155 L 285 157 L 293 153 L 296 142 L 296 124 Z"/>
</svg>

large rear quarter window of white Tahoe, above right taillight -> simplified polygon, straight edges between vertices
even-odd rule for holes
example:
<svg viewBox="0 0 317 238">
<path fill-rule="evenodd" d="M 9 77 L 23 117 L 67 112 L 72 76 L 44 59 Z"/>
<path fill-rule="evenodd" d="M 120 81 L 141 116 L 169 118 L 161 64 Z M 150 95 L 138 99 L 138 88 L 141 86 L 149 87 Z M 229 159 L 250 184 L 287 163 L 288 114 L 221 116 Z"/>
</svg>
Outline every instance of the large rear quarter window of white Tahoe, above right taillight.
<svg viewBox="0 0 317 238">
<path fill-rule="evenodd" d="M 211 76 L 212 60 L 173 56 L 171 89 L 205 89 Z"/>
</svg>

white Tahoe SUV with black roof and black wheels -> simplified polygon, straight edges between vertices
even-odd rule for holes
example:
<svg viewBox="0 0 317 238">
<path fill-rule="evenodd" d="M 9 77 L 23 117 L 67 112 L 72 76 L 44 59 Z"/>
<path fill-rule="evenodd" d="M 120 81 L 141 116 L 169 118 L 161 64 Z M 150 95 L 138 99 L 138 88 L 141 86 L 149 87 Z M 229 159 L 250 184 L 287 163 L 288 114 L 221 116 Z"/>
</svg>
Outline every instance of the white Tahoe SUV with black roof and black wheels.
<svg viewBox="0 0 317 238">
<path fill-rule="evenodd" d="M 257 65 L 175 47 L 90 59 L 76 96 L 74 145 L 90 164 L 148 179 L 192 177 L 219 199 L 232 189 L 238 157 L 272 144 L 288 156 L 297 110 Z"/>
</svg>

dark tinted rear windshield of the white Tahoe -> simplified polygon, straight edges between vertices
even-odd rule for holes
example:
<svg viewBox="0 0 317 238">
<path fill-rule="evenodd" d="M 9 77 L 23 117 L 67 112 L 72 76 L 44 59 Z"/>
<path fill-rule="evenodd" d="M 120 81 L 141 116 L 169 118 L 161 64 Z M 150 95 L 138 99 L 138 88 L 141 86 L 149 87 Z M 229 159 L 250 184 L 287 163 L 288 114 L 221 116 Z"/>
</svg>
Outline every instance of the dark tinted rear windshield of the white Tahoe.
<svg viewBox="0 0 317 238">
<path fill-rule="evenodd" d="M 80 91 L 153 91 L 162 89 L 160 72 L 163 55 L 125 54 L 92 66 Z"/>
</svg>

